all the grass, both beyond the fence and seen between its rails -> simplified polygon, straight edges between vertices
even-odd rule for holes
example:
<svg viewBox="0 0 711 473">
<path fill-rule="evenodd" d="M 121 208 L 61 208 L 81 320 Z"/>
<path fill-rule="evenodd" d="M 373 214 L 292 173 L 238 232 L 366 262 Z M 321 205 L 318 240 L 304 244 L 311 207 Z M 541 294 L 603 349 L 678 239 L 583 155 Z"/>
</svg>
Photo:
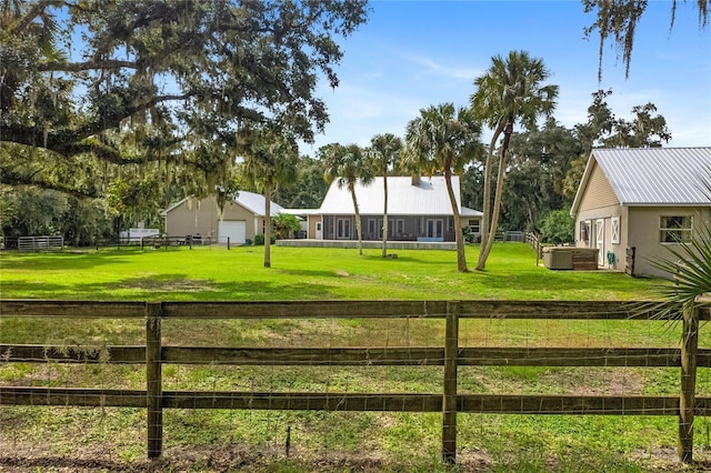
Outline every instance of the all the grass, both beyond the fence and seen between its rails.
<svg viewBox="0 0 711 473">
<path fill-rule="evenodd" d="M 468 248 L 473 263 L 477 248 Z M 488 271 L 455 272 L 448 251 L 272 248 L 101 250 L 0 253 L 0 296 L 91 300 L 517 299 L 649 300 L 663 281 L 613 272 L 553 272 L 523 244 L 494 245 Z M 164 344 L 272 346 L 441 346 L 441 321 L 288 320 L 166 321 Z M 141 344 L 141 321 L 0 318 L 1 343 L 102 346 Z M 471 346 L 675 346 L 678 330 L 634 321 L 461 322 Z M 701 333 L 701 344 L 709 345 Z M 462 393 L 674 395 L 674 369 L 461 366 Z M 166 365 L 168 390 L 439 392 L 441 369 Z M 140 366 L 2 363 L 4 385 L 142 389 Z M 711 392 L 702 371 L 699 392 Z M 639 416 L 459 416 L 459 466 L 439 462 L 440 414 L 297 411 L 166 411 L 166 460 L 144 460 L 144 411 L 133 409 L 0 409 L 0 451 L 27 460 L 106 459 L 99 471 L 675 471 L 677 420 Z M 697 419 L 697 456 L 709 447 L 709 421 Z M 7 426 L 7 429 L 6 429 Z M 286 452 L 290 432 L 290 455 Z M 704 433 L 705 432 L 705 433 Z M 39 441 L 38 439 L 41 439 Z M 43 459 L 43 460 L 42 460 Z M 49 460 L 48 460 L 49 459 Z M 0 470 L 3 457 L 0 456 Z M 69 469 L 94 463 L 77 461 Z M 149 470 L 150 469 L 150 470 Z M 52 471 L 52 470 L 49 470 Z"/>
</svg>

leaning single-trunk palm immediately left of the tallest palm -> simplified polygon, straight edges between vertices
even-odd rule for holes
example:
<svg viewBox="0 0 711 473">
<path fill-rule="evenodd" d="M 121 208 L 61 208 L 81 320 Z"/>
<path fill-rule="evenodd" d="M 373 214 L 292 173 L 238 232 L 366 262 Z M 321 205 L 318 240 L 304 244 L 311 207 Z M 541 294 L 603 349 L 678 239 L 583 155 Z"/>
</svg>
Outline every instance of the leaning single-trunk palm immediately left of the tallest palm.
<svg viewBox="0 0 711 473">
<path fill-rule="evenodd" d="M 457 242 L 457 270 L 468 272 L 464 239 L 460 229 L 460 214 L 452 173 L 460 174 L 480 152 L 481 130 L 469 109 L 455 109 L 453 103 L 431 105 L 420 110 L 420 117 L 408 123 L 405 137 L 405 162 L 432 175 L 444 173 L 447 192 L 452 205 Z"/>
</svg>

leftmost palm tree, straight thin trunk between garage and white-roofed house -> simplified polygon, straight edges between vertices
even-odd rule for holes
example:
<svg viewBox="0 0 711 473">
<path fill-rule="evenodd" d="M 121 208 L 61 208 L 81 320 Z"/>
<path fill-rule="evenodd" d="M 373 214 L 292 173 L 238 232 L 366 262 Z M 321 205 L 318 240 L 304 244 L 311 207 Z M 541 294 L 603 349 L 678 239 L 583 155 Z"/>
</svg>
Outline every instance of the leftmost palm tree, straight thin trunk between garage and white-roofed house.
<svg viewBox="0 0 711 473">
<path fill-rule="evenodd" d="M 271 268 L 271 194 L 297 179 L 297 142 L 271 129 L 244 129 L 239 135 L 242 177 L 264 193 L 264 268 Z"/>
</svg>

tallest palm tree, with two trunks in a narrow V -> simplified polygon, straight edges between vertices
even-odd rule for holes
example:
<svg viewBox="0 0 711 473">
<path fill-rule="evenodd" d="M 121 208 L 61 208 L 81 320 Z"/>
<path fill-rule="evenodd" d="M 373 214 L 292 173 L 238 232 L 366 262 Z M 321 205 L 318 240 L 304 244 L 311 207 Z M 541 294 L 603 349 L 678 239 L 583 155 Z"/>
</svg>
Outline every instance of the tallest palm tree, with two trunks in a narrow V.
<svg viewBox="0 0 711 473">
<path fill-rule="evenodd" d="M 549 76 L 541 59 L 531 58 L 525 51 L 511 51 L 505 59 L 493 57 L 489 70 L 474 80 L 477 92 L 471 97 L 472 110 L 479 120 L 493 129 L 484 164 L 481 248 L 477 263 L 479 271 L 487 265 L 499 224 L 507 151 L 513 127 L 518 122 L 524 129 L 532 130 L 539 115 L 550 114 L 555 108 L 558 85 L 541 84 Z M 499 148 L 499 172 L 492 205 L 493 153 L 501 134 L 503 140 Z"/>
</svg>

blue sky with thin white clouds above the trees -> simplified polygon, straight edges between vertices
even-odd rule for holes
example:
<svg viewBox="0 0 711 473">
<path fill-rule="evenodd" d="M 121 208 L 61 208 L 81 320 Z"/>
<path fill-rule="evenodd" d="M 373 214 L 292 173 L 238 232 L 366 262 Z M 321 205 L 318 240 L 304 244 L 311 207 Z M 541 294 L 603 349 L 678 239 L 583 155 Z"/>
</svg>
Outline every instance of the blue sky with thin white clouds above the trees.
<svg viewBox="0 0 711 473">
<path fill-rule="evenodd" d="M 318 94 L 331 122 L 313 145 L 367 145 L 377 133 L 404 135 L 419 110 L 467 105 L 473 80 L 495 54 L 525 50 L 541 58 L 560 87 L 555 119 L 587 121 L 591 94 L 612 89 L 613 113 L 631 119 L 634 105 L 652 102 L 672 133 L 668 147 L 711 145 L 711 27 L 699 28 L 693 2 L 679 2 L 670 31 L 671 1 L 651 0 L 638 26 L 629 79 L 607 44 L 598 82 L 598 37 L 580 1 L 372 1 L 367 24 L 342 41 L 340 85 L 322 82 Z"/>
</svg>

